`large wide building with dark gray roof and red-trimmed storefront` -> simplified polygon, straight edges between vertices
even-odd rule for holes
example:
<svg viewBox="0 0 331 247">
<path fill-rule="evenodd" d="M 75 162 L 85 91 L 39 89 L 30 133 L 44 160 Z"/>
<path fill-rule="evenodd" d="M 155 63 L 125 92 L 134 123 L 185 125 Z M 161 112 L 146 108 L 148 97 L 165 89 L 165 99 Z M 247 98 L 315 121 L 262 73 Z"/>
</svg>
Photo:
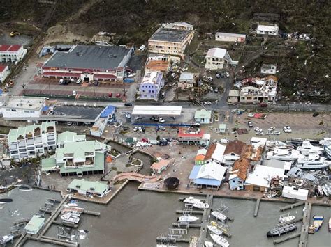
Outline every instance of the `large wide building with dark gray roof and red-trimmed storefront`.
<svg viewBox="0 0 331 247">
<path fill-rule="evenodd" d="M 74 45 L 69 51 L 55 51 L 38 72 L 52 79 L 122 81 L 133 47 Z"/>
</svg>

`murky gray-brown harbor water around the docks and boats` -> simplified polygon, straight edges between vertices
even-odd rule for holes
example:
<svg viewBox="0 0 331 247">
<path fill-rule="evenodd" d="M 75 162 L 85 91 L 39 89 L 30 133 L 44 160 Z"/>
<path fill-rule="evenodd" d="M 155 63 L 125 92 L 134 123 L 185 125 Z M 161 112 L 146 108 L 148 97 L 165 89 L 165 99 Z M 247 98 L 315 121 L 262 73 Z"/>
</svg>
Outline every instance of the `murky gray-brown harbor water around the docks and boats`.
<svg viewBox="0 0 331 247">
<path fill-rule="evenodd" d="M 156 246 L 156 237 L 159 237 L 160 234 L 168 234 L 172 223 L 175 223 L 179 216 L 179 214 L 175 214 L 175 211 L 184 206 L 183 202 L 179 202 L 179 198 L 182 196 L 175 193 L 138 191 L 137 187 L 138 183 L 129 182 L 108 205 L 80 202 L 80 206 L 86 209 L 101 212 L 99 217 L 82 215 L 78 229 L 89 230 L 89 233 L 86 239 L 80 240 L 80 246 L 152 247 Z M 0 198 L 4 197 L 6 195 L 0 195 Z M 38 208 L 43 206 L 45 198 L 59 198 L 59 193 L 15 189 L 10 191 L 7 197 L 13 198 L 13 202 L 5 206 L 0 205 L 1 234 L 8 234 L 8 228 L 15 219 L 37 212 Z M 222 204 L 228 207 L 228 215 L 235 218 L 235 221 L 227 223 L 232 234 L 232 237 L 226 237 L 230 246 L 274 246 L 273 239 L 267 238 L 266 234 L 268 230 L 277 225 L 279 215 L 284 213 L 290 213 L 295 217 L 303 215 L 302 206 L 281 212 L 279 207 L 284 206 L 284 203 L 261 202 L 258 216 L 253 217 L 256 205 L 254 200 L 214 198 L 212 207 L 220 207 Z M 18 210 L 20 215 L 17 215 L 18 212 L 16 212 L 14 216 L 11 216 L 15 210 Z M 311 216 L 313 215 L 323 215 L 325 222 L 319 232 L 309 234 L 308 246 L 330 246 L 331 234 L 328 232 L 330 207 L 313 206 Z M 296 232 L 290 234 L 300 232 L 300 230 L 301 223 L 297 223 Z M 49 237 L 56 237 L 56 234 L 57 226 L 55 225 L 46 233 Z M 190 229 L 188 235 L 198 236 L 198 234 L 198 229 Z M 277 246 L 297 246 L 298 241 L 297 237 Z M 51 245 L 27 241 L 24 246 Z"/>
</svg>

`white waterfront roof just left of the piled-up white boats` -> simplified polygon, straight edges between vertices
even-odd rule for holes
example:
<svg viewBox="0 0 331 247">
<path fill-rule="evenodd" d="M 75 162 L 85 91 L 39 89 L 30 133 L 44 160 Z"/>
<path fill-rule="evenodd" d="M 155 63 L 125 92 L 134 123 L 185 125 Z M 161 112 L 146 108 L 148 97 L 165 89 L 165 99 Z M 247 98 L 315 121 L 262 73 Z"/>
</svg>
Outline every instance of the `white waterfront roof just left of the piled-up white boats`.
<svg viewBox="0 0 331 247">
<path fill-rule="evenodd" d="M 253 173 L 249 174 L 249 177 L 246 179 L 245 183 L 268 188 L 270 186 L 271 179 L 274 177 L 283 178 L 284 169 L 256 165 Z"/>
</svg>

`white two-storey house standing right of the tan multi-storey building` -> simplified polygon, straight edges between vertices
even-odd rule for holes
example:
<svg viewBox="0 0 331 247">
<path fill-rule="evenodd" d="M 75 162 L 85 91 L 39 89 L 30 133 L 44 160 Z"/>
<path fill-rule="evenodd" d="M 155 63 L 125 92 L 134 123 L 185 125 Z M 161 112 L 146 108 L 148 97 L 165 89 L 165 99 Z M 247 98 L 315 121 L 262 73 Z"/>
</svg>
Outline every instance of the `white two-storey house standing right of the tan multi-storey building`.
<svg viewBox="0 0 331 247">
<path fill-rule="evenodd" d="M 237 65 L 238 61 L 233 61 L 228 51 L 221 48 L 209 49 L 205 58 L 205 68 L 207 70 L 221 70 L 228 65 Z"/>
</svg>

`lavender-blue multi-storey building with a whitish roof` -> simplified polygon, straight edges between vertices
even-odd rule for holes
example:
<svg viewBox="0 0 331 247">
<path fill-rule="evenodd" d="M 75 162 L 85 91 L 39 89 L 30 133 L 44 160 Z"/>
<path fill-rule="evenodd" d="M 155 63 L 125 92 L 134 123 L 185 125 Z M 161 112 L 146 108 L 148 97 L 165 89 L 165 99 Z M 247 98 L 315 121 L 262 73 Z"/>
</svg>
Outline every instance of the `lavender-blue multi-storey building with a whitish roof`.
<svg viewBox="0 0 331 247">
<path fill-rule="evenodd" d="M 139 87 L 140 99 L 158 100 L 163 86 L 164 79 L 161 72 L 146 72 Z"/>
</svg>

